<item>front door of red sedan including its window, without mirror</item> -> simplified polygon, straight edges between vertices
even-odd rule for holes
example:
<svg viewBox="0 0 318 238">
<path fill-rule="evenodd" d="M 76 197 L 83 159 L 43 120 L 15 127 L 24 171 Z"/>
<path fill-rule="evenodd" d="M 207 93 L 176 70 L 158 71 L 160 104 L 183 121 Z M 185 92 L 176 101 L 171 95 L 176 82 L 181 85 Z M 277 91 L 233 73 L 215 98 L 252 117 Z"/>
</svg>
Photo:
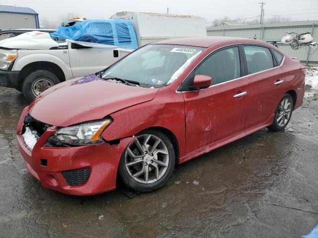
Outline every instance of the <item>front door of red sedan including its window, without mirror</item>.
<svg viewBox="0 0 318 238">
<path fill-rule="evenodd" d="M 187 153 L 244 130 L 248 82 L 240 65 L 239 47 L 221 49 L 185 79 L 191 86 L 195 75 L 212 76 L 211 87 L 183 92 Z"/>
</svg>

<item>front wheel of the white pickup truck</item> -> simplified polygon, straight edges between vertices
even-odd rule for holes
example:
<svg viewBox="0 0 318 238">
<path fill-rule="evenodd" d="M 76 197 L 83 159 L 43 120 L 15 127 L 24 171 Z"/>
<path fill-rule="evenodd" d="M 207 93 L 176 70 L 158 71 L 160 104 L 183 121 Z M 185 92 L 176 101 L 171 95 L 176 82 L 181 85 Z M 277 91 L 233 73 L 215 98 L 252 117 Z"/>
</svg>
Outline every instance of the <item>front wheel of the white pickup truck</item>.
<svg viewBox="0 0 318 238">
<path fill-rule="evenodd" d="M 32 101 L 46 89 L 60 82 L 59 78 L 50 71 L 36 70 L 24 79 L 22 92 L 28 101 Z"/>
</svg>

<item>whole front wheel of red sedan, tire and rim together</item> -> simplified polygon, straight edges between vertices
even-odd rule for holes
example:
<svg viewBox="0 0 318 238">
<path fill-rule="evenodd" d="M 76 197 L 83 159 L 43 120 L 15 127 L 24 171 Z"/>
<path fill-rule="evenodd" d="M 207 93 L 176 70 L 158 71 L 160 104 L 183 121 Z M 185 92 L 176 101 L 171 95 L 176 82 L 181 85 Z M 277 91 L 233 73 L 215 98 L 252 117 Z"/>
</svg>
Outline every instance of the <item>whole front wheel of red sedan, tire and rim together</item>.
<svg viewBox="0 0 318 238">
<path fill-rule="evenodd" d="M 127 146 L 118 173 L 128 188 L 149 192 L 163 186 L 174 164 L 175 153 L 168 137 L 149 129 L 138 134 Z"/>
</svg>

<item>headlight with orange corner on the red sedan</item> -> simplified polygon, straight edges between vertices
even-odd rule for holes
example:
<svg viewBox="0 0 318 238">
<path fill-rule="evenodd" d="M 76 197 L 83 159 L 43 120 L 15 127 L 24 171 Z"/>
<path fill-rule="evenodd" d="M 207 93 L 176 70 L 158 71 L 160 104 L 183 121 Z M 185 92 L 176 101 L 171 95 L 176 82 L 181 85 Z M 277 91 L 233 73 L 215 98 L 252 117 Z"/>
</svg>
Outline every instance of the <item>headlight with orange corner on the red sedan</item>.
<svg viewBox="0 0 318 238">
<path fill-rule="evenodd" d="M 57 129 L 48 139 L 53 145 L 92 145 L 103 142 L 101 133 L 112 122 L 111 119 L 86 122 Z"/>
</svg>

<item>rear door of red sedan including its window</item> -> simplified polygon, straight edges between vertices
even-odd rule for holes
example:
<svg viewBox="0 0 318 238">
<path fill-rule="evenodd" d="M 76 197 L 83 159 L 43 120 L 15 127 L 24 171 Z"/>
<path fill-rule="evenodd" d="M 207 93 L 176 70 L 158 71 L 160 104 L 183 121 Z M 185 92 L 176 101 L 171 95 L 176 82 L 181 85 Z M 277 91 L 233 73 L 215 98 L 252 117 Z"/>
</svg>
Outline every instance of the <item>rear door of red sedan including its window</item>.
<svg viewBox="0 0 318 238">
<path fill-rule="evenodd" d="M 275 113 L 281 95 L 284 93 L 284 71 L 267 47 L 245 45 L 249 82 L 246 129 L 262 124 Z"/>
</svg>

